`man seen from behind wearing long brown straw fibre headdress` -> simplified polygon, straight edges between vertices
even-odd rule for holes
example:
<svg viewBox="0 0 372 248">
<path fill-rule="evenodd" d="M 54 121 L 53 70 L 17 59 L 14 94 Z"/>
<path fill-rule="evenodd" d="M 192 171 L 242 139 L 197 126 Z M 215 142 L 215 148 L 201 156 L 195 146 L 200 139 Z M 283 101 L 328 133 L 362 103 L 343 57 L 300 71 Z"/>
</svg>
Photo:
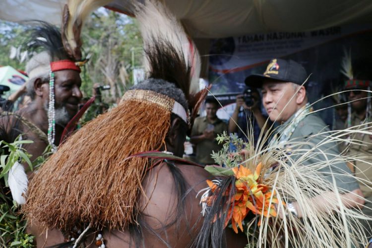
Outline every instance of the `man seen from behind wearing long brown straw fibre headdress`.
<svg viewBox="0 0 372 248">
<path fill-rule="evenodd" d="M 197 93 L 199 57 L 160 3 L 133 8 L 148 78 L 72 135 L 33 178 L 23 212 L 38 246 L 184 248 L 200 230 L 196 195 L 210 176 L 176 157 L 207 93 Z"/>
</svg>

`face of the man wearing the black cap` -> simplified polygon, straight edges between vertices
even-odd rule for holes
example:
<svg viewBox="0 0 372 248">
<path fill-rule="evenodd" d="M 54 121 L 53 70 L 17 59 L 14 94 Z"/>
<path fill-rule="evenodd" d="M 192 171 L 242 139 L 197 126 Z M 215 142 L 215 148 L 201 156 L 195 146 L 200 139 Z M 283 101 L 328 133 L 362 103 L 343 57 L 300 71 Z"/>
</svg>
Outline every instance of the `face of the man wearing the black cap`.
<svg viewBox="0 0 372 248">
<path fill-rule="evenodd" d="M 262 104 L 271 121 L 282 123 L 296 113 L 296 97 L 293 97 L 295 94 L 296 90 L 292 83 L 274 80 L 264 81 L 262 85 Z"/>
</svg>

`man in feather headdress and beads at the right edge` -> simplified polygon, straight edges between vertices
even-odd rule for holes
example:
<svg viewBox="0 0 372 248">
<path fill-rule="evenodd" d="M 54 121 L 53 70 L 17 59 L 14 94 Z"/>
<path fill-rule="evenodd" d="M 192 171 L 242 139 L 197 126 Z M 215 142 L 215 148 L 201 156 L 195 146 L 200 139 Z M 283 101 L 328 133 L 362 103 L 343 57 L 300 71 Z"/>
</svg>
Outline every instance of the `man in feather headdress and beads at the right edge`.
<svg viewBox="0 0 372 248">
<path fill-rule="evenodd" d="M 351 51 L 347 53 L 341 64 L 344 81 L 344 94 L 348 100 L 348 116 L 345 127 L 356 126 L 360 130 L 371 131 L 371 85 L 372 75 L 370 64 L 364 60 L 351 58 Z M 354 157 L 350 165 L 352 172 L 358 178 L 359 186 L 366 197 L 363 213 L 372 217 L 372 135 L 355 133 L 349 136 L 353 142 L 347 142 L 346 155 Z M 366 230 L 372 230 L 372 221 L 364 221 Z M 369 236 L 371 238 L 371 234 Z"/>
</svg>

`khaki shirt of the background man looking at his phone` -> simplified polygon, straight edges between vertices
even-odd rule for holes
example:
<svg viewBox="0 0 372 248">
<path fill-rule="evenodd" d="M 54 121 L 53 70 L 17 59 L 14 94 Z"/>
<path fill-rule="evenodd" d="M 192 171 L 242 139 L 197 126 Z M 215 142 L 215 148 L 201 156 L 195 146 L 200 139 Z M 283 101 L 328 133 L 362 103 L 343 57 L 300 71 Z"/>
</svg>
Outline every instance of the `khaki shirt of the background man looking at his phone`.
<svg viewBox="0 0 372 248">
<path fill-rule="evenodd" d="M 203 134 L 204 130 L 207 129 L 208 124 L 214 125 L 214 137 L 217 134 L 227 131 L 227 124 L 217 119 L 214 123 L 209 123 L 207 117 L 198 117 L 194 121 L 192 126 L 191 137 Z M 196 144 L 196 160 L 200 164 L 215 164 L 211 157 L 212 151 L 217 152 L 221 150 L 222 144 L 218 144 L 217 141 L 211 139 L 204 139 Z"/>
</svg>

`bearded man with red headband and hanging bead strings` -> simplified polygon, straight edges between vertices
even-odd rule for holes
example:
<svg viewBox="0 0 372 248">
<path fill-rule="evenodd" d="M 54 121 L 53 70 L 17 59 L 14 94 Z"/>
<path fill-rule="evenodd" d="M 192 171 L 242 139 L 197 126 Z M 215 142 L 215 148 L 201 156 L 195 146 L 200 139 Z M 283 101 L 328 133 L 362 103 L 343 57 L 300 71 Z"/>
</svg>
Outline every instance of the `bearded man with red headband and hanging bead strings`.
<svg viewBox="0 0 372 248">
<path fill-rule="evenodd" d="M 80 91 L 80 68 L 63 49 L 60 31 L 49 24 L 42 23 L 31 32 L 30 50 L 42 48 L 44 51 L 34 55 L 26 65 L 30 80 L 27 82 L 28 94 L 32 101 L 16 113 L 2 113 L 1 140 L 13 142 L 21 135 L 23 148 L 32 155 L 31 161 L 43 154 L 47 146 L 52 151 L 60 144 L 66 124 L 78 111 L 82 97 Z M 28 166 L 24 166 L 29 175 Z M 18 162 L 9 172 L 9 182 L 14 177 L 16 184 L 9 184 L 13 199 L 24 203 L 27 182 L 22 181 Z M 20 173 L 20 174 L 18 174 Z M 24 173 L 23 173 L 24 174 Z"/>
</svg>

